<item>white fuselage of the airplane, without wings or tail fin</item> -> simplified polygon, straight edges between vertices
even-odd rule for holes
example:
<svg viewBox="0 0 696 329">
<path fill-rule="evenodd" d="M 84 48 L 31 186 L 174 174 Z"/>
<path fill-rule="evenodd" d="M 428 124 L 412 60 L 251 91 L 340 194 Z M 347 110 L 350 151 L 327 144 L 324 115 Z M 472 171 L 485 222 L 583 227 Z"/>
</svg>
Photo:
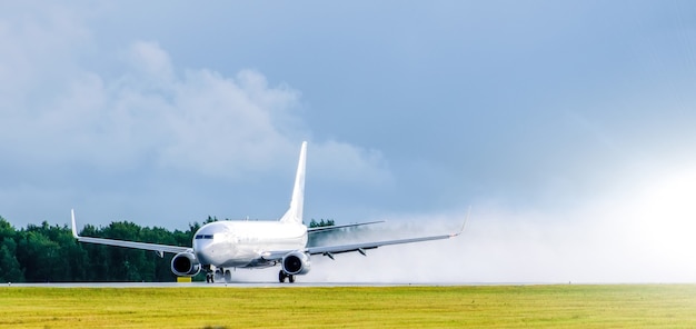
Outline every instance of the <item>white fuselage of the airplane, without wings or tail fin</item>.
<svg viewBox="0 0 696 329">
<path fill-rule="evenodd" d="M 264 252 L 300 250 L 307 245 L 307 227 L 280 221 L 216 221 L 193 237 L 193 252 L 203 265 L 252 267 Z"/>
</svg>

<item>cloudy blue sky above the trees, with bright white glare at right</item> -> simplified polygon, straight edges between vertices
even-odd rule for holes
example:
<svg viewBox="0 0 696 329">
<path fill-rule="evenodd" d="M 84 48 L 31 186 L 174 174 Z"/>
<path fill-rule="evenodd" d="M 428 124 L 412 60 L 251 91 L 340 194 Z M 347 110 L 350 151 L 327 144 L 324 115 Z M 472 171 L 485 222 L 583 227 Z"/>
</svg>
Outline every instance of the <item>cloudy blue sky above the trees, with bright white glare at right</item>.
<svg viewBox="0 0 696 329">
<path fill-rule="evenodd" d="M 695 89 L 692 1 L 8 2 L 0 216 L 277 219 L 307 140 L 306 220 L 471 206 L 315 279 L 694 282 Z"/>
</svg>

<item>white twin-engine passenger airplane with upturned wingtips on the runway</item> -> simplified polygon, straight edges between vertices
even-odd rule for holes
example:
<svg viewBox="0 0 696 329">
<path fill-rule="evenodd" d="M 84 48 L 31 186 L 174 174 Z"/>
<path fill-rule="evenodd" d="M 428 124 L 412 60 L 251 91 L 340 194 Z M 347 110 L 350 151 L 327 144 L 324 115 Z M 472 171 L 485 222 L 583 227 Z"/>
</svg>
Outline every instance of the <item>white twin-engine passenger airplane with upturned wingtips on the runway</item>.
<svg viewBox="0 0 696 329">
<path fill-rule="evenodd" d="M 334 256 L 337 253 L 356 251 L 362 256 L 367 256 L 366 250 L 369 249 L 390 245 L 449 239 L 459 236 L 464 231 L 464 227 L 469 217 L 468 213 L 461 229 L 450 235 L 340 246 L 307 247 L 308 235 L 310 233 L 372 225 L 380 221 L 307 228 L 302 223 L 306 159 L 307 141 L 302 142 L 300 148 L 290 207 L 279 220 L 209 222 L 196 231 L 191 247 L 189 248 L 82 237 L 78 235 L 74 209 L 72 209 L 70 211 L 72 217 L 72 236 L 80 242 L 152 250 L 156 251 L 159 257 L 163 257 L 165 252 L 175 253 L 171 259 L 171 271 L 178 277 L 193 277 L 203 270 L 206 272 L 207 282 L 215 282 L 220 279 L 225 279 L 226 282 L 231 282 L 232 277 L 230 269 L 280 266 L 278 281 L 284 283 L 286 279 L 288 279 L 288 282 L 292 283 L 295 282 L 296 276 L 307 275 L 307 272 L 309 272 L 311 268 L 311 256 L 321 255 L 335 259 Z"/>
</svg>

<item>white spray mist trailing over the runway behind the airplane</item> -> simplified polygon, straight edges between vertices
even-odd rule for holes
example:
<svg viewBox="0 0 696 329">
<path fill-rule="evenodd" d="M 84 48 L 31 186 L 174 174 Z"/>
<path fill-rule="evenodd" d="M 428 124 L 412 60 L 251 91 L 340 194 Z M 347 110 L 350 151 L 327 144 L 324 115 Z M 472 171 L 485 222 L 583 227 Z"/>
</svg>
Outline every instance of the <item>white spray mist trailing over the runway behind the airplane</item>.
<svg viewBox="0 0 696 329">
<path fill-rule="evenodd" d="M 461 236 L 314 256 L 302 282 L 633 283 L 694 282 L 696 172 L 669 168 L 607 186 L 566 208 L 473 205 Z M 466 208 L 443 213 L 395 213 L 321 245 L 453 233 Z M 376 218 L 377 219 L 377 218 Z M 278 268 L 238 270 L 246 281 L 275 281 Z"/>
</svg>

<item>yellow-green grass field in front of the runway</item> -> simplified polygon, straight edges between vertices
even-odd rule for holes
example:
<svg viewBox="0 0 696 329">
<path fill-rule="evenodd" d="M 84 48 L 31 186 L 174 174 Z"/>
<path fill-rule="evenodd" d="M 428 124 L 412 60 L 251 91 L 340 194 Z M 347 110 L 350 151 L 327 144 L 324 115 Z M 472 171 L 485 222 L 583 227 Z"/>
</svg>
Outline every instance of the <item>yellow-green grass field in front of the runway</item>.
<svg viewBox="0 0 696 329">
<path fill-rule="evenodd" d="M 0 328 L 696 328 L 696 286 L 0 288 Z"/>
</svg>

